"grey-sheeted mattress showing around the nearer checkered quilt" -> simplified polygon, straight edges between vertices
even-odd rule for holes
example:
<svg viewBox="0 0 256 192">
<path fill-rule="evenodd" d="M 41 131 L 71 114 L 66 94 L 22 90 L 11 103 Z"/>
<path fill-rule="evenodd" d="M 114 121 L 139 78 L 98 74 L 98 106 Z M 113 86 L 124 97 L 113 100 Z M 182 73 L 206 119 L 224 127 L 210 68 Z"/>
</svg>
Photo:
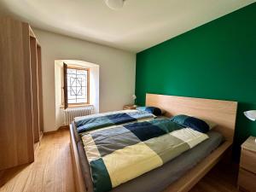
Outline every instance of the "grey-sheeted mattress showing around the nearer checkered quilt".
<svg viewBox="0 0 256 192">
<path fill-rule="evenodd" d="M 166 189 L 185 172 L 193 168 L 197 163 L 207 157 L 219 144 L 223 142 L 223 137 L 217 131 L 209 131 L 209 138 L 198 144 L 195 148 L 179 155 L 174 160 L 167 162 L 151 172 L 147 172 L 140 177 L 132 179 L 112 189 L 113 192 L 157 192 Z M 77 137 L 78 138 L 78 137 Z M 84 148 L 81 141 L 78 141 L 79 160 L 81 163 L 82 174 L 86 188 L 89 192 L 93 191 L 92 180 L 90 177 L 90 167 L 84 154 Z"/>
</svg>

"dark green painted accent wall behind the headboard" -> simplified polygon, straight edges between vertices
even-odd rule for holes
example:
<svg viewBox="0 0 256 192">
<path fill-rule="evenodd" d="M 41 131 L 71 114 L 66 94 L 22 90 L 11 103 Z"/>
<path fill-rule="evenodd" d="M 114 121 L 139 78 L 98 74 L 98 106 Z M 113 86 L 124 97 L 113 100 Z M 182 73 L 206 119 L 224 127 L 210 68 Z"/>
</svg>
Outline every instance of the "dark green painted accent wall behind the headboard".
<svg viewBox="0 0 256 192">
<path fill-rule="evenodd" d="M 256 3 L 137 53 L 137 104 L 146 93 L 237 101 L 234 157 L 256 137 Z"/>
</svg>

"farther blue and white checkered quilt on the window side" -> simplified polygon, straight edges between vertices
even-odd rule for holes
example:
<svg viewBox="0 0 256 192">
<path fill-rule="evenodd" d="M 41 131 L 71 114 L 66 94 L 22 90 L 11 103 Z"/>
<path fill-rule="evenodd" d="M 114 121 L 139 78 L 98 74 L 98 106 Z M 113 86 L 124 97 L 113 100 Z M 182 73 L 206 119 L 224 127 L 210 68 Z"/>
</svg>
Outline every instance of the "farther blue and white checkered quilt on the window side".
<svg viewBox="0 0 256 192">
<path fill-rule="evenodd" d="M 156 116 L 138 110 L 122 110 L 108 113 L 91 114 L 84 117 L 75 118 L 77 130 L 79 133 L 84 131 L 92 131 L 98 128 L 121 125 L 125 123 L 135 122 L 142 119 L 154 119 Z"/>
</svg>

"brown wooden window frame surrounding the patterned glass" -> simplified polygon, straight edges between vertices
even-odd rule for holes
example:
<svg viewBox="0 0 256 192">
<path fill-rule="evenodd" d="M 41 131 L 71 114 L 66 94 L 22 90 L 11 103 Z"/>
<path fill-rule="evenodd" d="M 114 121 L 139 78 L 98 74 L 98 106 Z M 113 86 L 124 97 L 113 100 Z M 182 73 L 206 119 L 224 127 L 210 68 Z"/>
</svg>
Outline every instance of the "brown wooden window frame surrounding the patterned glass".
<svg viewBox="0 0 256 192">
<path fill-rule="evenodd" d="M 86 105 L 90 105 L 90 68 L 86 67 L 74 67 L 68 66 L 66 63 L 63 63 L 64 66 L 64 108 L 74 108 L 74 107 L 83 107 Z M 83 70 L 87 71 L 87 102 L 79 102 L 79 103 L 68 103 L 67 98 L 67 69 L 76 69 L 76 70 Z"/>
</svg>

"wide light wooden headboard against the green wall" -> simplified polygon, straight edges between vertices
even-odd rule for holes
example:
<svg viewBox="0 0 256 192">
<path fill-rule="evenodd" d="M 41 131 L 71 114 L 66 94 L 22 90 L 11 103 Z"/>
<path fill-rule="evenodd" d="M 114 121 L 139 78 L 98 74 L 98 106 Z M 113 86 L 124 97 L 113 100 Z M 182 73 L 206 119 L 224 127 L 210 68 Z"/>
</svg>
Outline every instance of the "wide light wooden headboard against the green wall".
<svg viewBox="0 0 256 192">
<path fill-rule="evenodd" d="M 146 106 L 166 110 L 167 117 L 188 114 L 210 120 L 218 125 L 214 130 L 221 132 L 226 140 L 233 142 L 237 102 L 147 94 Z"/>
</svg>

